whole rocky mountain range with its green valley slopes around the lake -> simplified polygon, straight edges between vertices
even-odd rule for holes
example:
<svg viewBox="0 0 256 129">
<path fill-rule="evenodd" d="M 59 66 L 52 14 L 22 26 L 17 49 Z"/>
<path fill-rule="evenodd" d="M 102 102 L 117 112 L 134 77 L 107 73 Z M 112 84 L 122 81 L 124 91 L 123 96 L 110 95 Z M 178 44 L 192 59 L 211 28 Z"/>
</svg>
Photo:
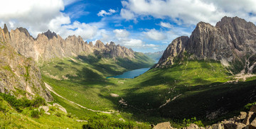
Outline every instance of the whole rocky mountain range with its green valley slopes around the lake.
<svg viewBox="0 0 256 129">
<path fill-rule="evenodd" d="M 31 125 L 48 127 L 44 120 L 58 117 L 53 120 L 82 120 L 83 128 L 150 128 L 147 123 L 163 121 L 181 128 L 189 118 L 209 125 L 237 116 L 256 101 L 256 26 L 238 17 L 225 16 L 215 26 L 200 22 L 190 37 L 145 55 L 113 42 L 93 45 L 76 35 L 63 39 L 50 30 L 33 38 L 26 28 L 9 31 L 6 25 L 0 41 L 1 93 L 53 101 L 41 107 L 51 117 L 38 113 L 43 120 L 31 122 L 38 107 L 19 114 Z M 159 60 L 154 64 L 149 57 Z M 134 79 L 107 78 L 143 67 L 151 69 Z M 68 114 L 56 111 L 53 103 Z"/>
</svg>

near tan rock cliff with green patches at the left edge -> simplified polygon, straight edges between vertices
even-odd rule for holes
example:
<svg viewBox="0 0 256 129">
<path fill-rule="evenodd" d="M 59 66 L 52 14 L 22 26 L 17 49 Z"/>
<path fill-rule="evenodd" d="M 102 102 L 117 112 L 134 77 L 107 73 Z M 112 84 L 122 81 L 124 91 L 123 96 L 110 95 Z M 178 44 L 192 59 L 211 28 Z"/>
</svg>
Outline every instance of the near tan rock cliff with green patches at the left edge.
<svg viewBox="0 0 256 129">
<path fill-rule="evenodd" d="M 10 41 L 8 29 L 6 27 L 4 29 L 0 28 L 1 93 L 13 94 L 18 98 L 25 96 L 28 99 L 32 99 L 34 95 L 39 94 L 43 96 L 46 101 L 52 101 L 53 97 L 46 89 L 41 78 L 40 70 L 36 67 L 36 63 L 18 54 L 14 48 L 9 45 Z"/>
</svg>

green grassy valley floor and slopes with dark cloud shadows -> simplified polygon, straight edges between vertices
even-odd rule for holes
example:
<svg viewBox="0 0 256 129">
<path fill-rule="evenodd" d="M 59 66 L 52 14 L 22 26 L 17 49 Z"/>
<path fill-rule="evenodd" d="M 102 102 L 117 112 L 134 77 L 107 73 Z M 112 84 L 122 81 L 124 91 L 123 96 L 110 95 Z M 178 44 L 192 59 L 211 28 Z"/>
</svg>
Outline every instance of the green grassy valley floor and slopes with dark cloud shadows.
<svg viewBox="0 0 256 129">
<path fill-rule="evenodd" d="M 74 59 L 74 62 L 67 58 L 45 64 L 41 67 L 44 81 L 71 101 L 93 110 L 120 111 L 120 117 L 127 120 L 154 124 L 171 121 L 174 127 L 181 127 L 184 118 L 196 116 L 204 125 L 208 125 L 237 116 L 243 106 L 256 101 L 250 96 L 255 91 L 255 77 L 247 82 L 225 84 L 233 80 L 233 76 L 220 62 L 183 60 L 168 68 L 150 69 L 135 79 L 106 79 L 133 67 L 121 59 L 80 59 Z M 65 75 L 67 73 L 70 76 Z M 63 75 L 68 79 L 61 78 Z M 119 97 L 110 96 L 112 93 Z M 174 101 L 166 103 L 176 96 Z M 57 96 L 54 98 L 75 116 L 86 120 L 95 116 L 95 113 L 72 106 Z M 128 106 L 120 104 L 120 99 L 124 99 Z M 166 106 L 159 108 L 164 103 Z M 220 113 L 212 120 L 206 118 L 216 111 L 225 114 Z"/>
</svg>

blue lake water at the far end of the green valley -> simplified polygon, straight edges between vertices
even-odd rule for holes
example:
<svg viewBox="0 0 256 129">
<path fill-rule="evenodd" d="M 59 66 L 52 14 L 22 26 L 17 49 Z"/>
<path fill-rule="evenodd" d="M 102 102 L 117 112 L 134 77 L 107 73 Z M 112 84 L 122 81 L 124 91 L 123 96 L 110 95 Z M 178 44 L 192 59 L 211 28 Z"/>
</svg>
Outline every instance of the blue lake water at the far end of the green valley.
<svg viewBox="0 0 256 129">
<path fill-rule="evenodd" d="M 143 74 L 144 72 L 148 71 L 150 68 L 142 68 L 142 69 L 135 69 L 132 71 L 124 72 L 123 74 L 113 76 L 114 78 L 124 78 L 124 79 L 133 79 L 134 77 L 139 76 L 140 74 Z M 110 78 L 110 77 L 107 77 Z"/>
</svg>

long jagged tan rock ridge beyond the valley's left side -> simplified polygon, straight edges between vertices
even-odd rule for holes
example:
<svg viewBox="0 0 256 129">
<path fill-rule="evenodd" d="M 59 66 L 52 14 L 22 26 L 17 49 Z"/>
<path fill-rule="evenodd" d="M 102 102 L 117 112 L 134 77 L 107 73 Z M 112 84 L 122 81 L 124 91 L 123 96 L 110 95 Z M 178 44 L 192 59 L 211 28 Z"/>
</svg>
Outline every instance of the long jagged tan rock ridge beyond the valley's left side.
<svg viewBox="0 0 256 129">
<path fill-rule="evenodd" d="M 7 30 L 8 31 L 8 30 Z M 55 57 L 71 57 L 88 55 L 97 51 L 106 57 L 128 57 L 134 58 L 134 52 L 119 45 L 104 45 L 97 40 L 95 45 L 82 40 L 80 36 L 68 36 L 65 40 L 54 32 L 48 30 L 41 33 L 34 39 L 25 28 L 17 28 L 9 33 L 9 41 L 16 52 L 25 57 L 32 57 L 33 60 L 45 61 Z"/>
</svg>

